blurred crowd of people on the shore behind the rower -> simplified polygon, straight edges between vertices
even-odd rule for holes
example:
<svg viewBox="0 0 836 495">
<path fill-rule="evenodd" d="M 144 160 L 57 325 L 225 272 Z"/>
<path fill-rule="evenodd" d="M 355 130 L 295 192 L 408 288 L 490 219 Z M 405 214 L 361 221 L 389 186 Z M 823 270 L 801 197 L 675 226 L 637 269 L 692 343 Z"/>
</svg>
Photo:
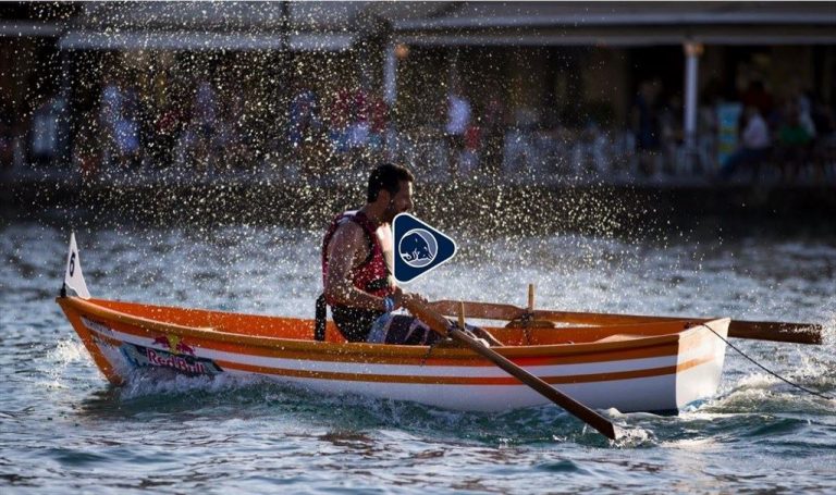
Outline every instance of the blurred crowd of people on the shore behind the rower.
<svg viewBox="0 0 836 495">
<path fill-rule="evenodd" d="M 97 103 L 81 114 L 69 115 L 59 95 L 46 99 L 23 131 L 15 131 L 4 113 L 0 162 L 8 169 L 15 161 L 44 165 L 69 159 L 85 176 L 172 166 L 223 173 L 265 161 L 321 174 L 383 158 L 407 164 L 441 162 L 441 169 L 465 177 L 524 169 L 721 180 L 757 177 L 765 169 L 786 181 L 801 174 L 836 175 L 834 109 L 797 88 L 776 97 L 758 81 L 734 99 L 704 99 L 693 149 L 686 147 L 681 98 L 665 94 L 654 79 L 639 84 L 625 125 L 583 119 L 580 125 L 549 127 L 531 111 L 512 112 L 499 95 L 472 102 L 455 86 L 444 101 L 428 106 L 435 124 L 420 126 L 398 122 L 376 91 L 345 87 L 318 95 L 307 87 L 294 89 L 279 109 L 282 117 L 266 125 L 250 115 L 258 101 L 222 92 L 206 79 L 194 82 L 187 101 L 148 106 L 134 85 L 110 78 L 101 85 Z M 730 147 L 724 137 L 729 134 Z"/>
</svg>

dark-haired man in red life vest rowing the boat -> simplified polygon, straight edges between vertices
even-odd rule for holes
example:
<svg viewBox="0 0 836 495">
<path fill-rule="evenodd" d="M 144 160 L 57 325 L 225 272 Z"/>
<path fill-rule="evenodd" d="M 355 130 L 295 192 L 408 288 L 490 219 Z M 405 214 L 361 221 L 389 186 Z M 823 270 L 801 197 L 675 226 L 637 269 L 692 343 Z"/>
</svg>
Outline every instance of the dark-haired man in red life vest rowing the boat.
<svg viewBox="0 0 836 495">
<path fill-rule="evenodd" d="M 324 293 L 317 301 L 316 338 L 324 339 L 325 304 L 348 342 L 432 345 L 441 336 L 416 318 L 392 314 L 410 298 L 392 277 L 392 221 L 413 208 L 415 177 L 403 166 L 384 163 L 369 176 L 366 206 L 337 215 L 322 240 Z M 496 343 L 487 332 L 478 336 Z"/>
</svg>

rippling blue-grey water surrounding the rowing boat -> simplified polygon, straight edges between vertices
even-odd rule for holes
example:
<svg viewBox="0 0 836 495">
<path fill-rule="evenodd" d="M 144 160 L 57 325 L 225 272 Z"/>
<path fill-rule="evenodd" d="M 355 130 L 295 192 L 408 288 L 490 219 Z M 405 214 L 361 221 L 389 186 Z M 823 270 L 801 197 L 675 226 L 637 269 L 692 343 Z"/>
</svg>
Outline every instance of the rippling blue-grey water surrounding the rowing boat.
<svg viewBox="0 0 836 495">
<path fill-rule="evenodd" d="M 59 220 L 0 227 L 3 493 L 836 490 L 836 401 L 730 349 L 717 396 L 679 417 L 606 411 L 629 431 L 615 443 L 556 407 L 452 412 L 229 379 L 111 387 L 53 301 L 69 239 Z M 75 227 L 94 296 L 312 314 L 319 232 Z M 822 322 L 824 346 L 735 343 L 836 395 L 836 237 L 448 233 L 460 256 L 410 289 L 524 305 L 530 282 L 541 307 Z"/>
</svg>

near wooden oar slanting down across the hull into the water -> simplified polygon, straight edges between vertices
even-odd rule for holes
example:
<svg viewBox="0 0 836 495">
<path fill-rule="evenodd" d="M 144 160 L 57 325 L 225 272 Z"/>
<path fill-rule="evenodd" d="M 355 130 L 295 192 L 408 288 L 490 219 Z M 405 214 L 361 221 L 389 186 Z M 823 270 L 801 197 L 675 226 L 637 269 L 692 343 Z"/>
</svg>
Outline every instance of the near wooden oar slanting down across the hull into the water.
<svg viewBox="0 0 836 495">
<path fill-rule="evenodd" d="M 444 317 L 430 309 L 428 306 L 411 299 L 404 301 L 404 306 L 409 310 L 409 312 L 427 323 L 434 332 L 445 337 L 453 337 L 455 341 L 460 342 L 478 355 L 505 370 L 512 376 L 516 378 L 520 382 L 540 393 L 540 395 L 543 397 L 561 406 L 579 420 L 594 428 L 602 435 L 606 436 L 607 438 L 615 440 L 615 428 L 613 426 L 613 423 L 611 423 L 603 416 L 578 403 L 571 397 L 561 393 L 553 386 L 549 385 L 522 368 L 514 364 L 507 358 L 501 356 L 490 347 L 483 346 L 479 341 L 468 335 L 462 329 L 452 325 Z"/>
</svg>

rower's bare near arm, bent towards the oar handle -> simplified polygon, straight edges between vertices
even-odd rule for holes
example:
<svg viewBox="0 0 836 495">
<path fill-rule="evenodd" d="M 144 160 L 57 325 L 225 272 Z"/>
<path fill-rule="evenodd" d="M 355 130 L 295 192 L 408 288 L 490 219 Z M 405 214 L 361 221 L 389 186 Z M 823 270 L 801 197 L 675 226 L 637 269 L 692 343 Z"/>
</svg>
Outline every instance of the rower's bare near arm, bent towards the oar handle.
<svg viewBox="0 0 836 495">
<path fill-rule="evenodd" d="M 354 222 L 340 225 L 328 245 L 325 296 L 343 306 L 384 311 L 386 306 L 382 297 L 365 293 L 352 283 L 352 269 L 359 265 L 367 256 L 368 242 L 362 227 Z M 396 299 L 399 298 L 396 296 Z"/>
</svg>

